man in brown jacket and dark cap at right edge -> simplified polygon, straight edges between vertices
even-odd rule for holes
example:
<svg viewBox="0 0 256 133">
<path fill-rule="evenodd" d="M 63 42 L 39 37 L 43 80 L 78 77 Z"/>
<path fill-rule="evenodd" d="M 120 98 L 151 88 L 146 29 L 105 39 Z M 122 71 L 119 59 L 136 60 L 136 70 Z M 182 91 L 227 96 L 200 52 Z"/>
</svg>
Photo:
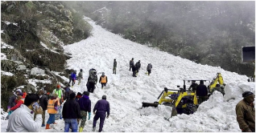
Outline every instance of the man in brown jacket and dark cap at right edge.
<svg viewBox="0 0 256 133">
<path fill-rule="evenodd" d="M 255 132 L 254 93 L 246 91 L 236 106 L 237 123 L 242 132 Z"/>
</svg>

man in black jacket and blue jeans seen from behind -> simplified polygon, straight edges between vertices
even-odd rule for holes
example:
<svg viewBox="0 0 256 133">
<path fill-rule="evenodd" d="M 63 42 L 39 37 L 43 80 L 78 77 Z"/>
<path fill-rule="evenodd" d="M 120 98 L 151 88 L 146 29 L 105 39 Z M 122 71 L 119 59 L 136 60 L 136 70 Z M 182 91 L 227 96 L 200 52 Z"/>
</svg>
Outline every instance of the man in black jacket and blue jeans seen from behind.
<svg viewBox="0 0 256 133">
<path fill-rule="evenodd" d="M 64 132 L 69 131 L 72 127 L 72 132 L 77 132 L 78 123 L 81 119 L 81 111 L 79 104 L 75 101 L 76 94 L 70 95 L 70 100 L 64 103 L 62 116 L 65 122 Z"/>
</svg>

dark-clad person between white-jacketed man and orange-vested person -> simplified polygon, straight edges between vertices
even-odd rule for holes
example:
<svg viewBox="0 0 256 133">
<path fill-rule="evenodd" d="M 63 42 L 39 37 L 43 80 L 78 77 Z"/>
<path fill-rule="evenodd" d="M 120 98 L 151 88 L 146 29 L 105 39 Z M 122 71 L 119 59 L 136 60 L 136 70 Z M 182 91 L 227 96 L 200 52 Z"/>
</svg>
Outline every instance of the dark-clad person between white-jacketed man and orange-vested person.
<svg viewBox="0 0 256 133">
<path fill-rule="evenodd" d="M 39 98 L 40 98 L 39 105 L 43 109 L 43 115 L 42 115 L 43 122 L 41 127 L 45 127 L 44 120 L 45 120 L 45 111 L 47 110 L 48 99 L 47 99 L 47 95 L 44 94 L 43 90 L 39 90 Z M 34 117 L 34 120 L 35 120 L 35 117 Z"/>
</svg>

